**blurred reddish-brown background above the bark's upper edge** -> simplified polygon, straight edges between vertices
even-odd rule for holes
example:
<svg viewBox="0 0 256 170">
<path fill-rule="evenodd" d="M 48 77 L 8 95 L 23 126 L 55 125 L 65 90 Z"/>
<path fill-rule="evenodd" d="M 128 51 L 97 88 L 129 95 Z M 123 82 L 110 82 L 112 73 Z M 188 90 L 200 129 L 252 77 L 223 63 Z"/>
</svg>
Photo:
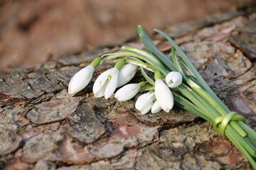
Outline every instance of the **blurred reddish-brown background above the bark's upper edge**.
<svg viewBox="0 0 256 170">
<path fill-rule="evenodd" d="M 234 10 L 252 0 L 0 0 L 0 72 Z"/>
</svg>

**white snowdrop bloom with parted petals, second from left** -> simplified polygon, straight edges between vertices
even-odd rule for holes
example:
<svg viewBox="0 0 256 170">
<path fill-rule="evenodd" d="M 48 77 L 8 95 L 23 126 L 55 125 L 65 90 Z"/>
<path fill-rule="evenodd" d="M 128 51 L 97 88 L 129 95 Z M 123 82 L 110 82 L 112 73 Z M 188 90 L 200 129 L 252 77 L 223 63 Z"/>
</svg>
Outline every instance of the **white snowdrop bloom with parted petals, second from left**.
<svg viewBox="0 0 256 170">
<path fill-rule="evenodd" d="M 110 98 L 114 94 L 115 89 L 117 89 L 118 74 L 119 70 L 116 67 L 100 74 L 92 87 L 95 97 L 105 96 L 106 99 Z"/>
</svg>

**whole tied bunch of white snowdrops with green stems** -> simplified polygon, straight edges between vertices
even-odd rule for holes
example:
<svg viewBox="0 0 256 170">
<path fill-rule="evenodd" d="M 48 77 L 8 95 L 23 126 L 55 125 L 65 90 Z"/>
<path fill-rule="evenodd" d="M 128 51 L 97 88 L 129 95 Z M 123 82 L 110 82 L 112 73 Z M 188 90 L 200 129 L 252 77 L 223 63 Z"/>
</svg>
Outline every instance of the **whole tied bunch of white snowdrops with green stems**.
<svg viewBox="0 0 256 170">
<path fill-rule="evenodd" d="M 147 51 L 122 47 L 121 51 L 97 57 L 73 76 L 68 86 L 68 93 L 75 94 L 84 89 L 99 64 L 106 60 L 117 59 L 112 69 L 97 77 L 92 88 L 95 97 L 110 98 L 114 91 L 122 86 L 116 91 L 114 98 L 118 101 L 128 101 L 139 91 L 144 91 L 145 93 L 139 96 L 135 103 L 135 108 L 142 114 L 149 111 L 158 113 L 161 110 L 168 113 L 175 101 L 176 106 L 213 123 L 213 128 L 223 137 L 228 137 L 256 169 L 256 132 L 244 123 L 245 118 L 230 111 L 220 101 L 188 57 L 166 33 L 156 30 L 171 42 L 172 61 L 154 46 L 142 26 L 138 26 L 138 32 Z M 127 84 L 134 77 L 138 67 L 145 81 Z M 145 69 L 154 72 L 154 79 L 146 74 Z M 146 84 L 150 85 L 146 86 Z"/>
</svg>

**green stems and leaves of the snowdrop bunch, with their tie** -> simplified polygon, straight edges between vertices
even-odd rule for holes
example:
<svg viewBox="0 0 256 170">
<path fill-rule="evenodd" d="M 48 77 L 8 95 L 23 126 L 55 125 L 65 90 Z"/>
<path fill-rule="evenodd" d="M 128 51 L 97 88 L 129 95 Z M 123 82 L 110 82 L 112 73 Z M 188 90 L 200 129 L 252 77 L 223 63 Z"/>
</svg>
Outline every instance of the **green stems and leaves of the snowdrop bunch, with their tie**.
<svg viewBox="0 0 256 170">
<path fill-rule="evenodd" d="M 164 79 L 169 72 L 179 72 L 182 75 L 181 85 L 172 89 L 176 106 L 191 111 L 201 118 L 213 123 L 213 128 L 223 137 L 233 142 L 245 155 L 252 167 L 256 169 L 256 132 L 245 124 L 245 118 L 236 112 L 230 111 L 220 98 L 214 94 L 201 74 L 188 60 L 184 52 L 176 45 L 169 35 L 161 30 L 161 33 L 171 43 L 171 60 L 163 52 L 157 49 L 150 40 L 142 26 L 138 26 L 139 38 L 144 43 L 146 51 L 134 47 L 122 47 L 119 52 L 103 55 L 101 62 L 124 57 L 125 62 L 141 67 L 142 75 L 151 84 L 145 90 L 154 89 L 154 80 L 144 69 L 160 75 Z"/>
</svg>

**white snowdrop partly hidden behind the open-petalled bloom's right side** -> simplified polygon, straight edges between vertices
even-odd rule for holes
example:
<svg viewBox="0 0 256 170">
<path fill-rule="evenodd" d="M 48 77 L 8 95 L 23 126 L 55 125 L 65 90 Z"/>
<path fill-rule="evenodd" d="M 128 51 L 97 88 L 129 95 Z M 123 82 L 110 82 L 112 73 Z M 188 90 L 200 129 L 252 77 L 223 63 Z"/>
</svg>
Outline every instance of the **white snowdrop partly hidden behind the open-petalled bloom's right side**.
<svg viewBox="0 0 256 170">
<path fill-rule="evenodd" d="M 127 84 L 135 75 L 137 71 L 137 65 L 125 64 L 120 70 L 118 75 L 117 87 Z"/>
</svg>

